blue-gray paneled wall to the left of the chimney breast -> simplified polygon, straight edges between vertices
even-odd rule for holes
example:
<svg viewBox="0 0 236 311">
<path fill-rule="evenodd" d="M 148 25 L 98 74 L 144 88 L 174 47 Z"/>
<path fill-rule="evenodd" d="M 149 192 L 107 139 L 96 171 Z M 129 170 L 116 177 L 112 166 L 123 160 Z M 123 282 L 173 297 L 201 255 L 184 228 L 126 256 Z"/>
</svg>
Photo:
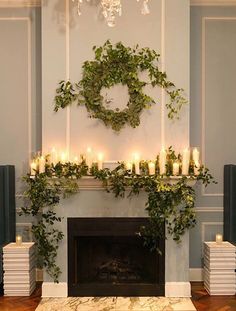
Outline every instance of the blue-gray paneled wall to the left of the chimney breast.
<svg viewBox="0 0 236 311">
<path fill-rule="evenodd" d="M 0 164 L 16 167 L 19 208 L 21 177 L 42 145 L 41 9 L 0 8 L 0 42 Z M 31 219 L 17 217 L 17 223 L 17 231 L 30 239 Z"/>
</svg>

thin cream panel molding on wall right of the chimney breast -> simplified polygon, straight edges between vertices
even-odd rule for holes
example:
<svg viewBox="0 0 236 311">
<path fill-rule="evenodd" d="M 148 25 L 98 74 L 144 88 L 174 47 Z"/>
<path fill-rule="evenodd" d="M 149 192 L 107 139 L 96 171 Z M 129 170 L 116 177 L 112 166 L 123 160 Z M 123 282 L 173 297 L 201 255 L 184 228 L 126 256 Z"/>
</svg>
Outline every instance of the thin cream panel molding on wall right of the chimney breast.
<svg viewBox="0 0 236 311">
<path fill-rule="evenodd" d="M 203 1 L 205 2 L 205 1 Z M 211 1 L 210 1 L 211 2 Z M 213 2 L 213 1 L 212 1 Z M 218 2 L 227 2 L 227 1 L 218 1 Z M 232 1 L 236 4 L 236 0 Z M 202 57 L 202 73 L 201 73 L 201 84 L 202 84 L 202 125 L 201 125 L 201 147 L 202 147 L 202 161 L 203 163 L 206 163 L 206 22 L 207 21 L 227 21 L 227 20 L 236 20 L 236 17 L 230 17 L 230 16 L 204 16 L 202 18 L 202 51 L 201 51 L 201 57 Z M 203 197 L 223 197 L 223 193 L 206 193 L 206 188 L 204 185 L 201 186 L 201 195 Z"/>
</svg>

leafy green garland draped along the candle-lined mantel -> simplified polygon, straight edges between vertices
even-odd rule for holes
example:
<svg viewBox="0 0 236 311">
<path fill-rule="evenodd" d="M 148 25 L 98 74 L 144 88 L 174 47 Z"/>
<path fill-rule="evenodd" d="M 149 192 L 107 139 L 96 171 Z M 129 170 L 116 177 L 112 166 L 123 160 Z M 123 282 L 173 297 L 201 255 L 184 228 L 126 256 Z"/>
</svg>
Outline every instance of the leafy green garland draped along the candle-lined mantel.
<svg viewBox="0 0 236 311">
<path fill-rule="evenodd" d="M 169 148 L 167 177 L 172 174 L 172 162 L 176 158 L 180 159 L 181 156 L 176 156 L 172 148 Z M 104 188 L 115 197 L 125 197 L 127 189 L 130 189 L 128 196 L 138 195 L 140 191 L 147 193 L 146 211 L 149 225 L 140 228 L 139 234 L 151 250 L 159 251 L 158 239 L 166 238 L 161 235 L 164 224 L 168 233 L 178 243 L 186 230 L 195 226 L 195 191 L 188 185 L 188 178 L 183 176 L 172 184 L 170 180 L 158 175 L 158 157 L 155 175 L 148 175 L 147 161 L 142 161 L 140 166 L 141 174 L 136 175 L 134 171 L 127 170 L 124 163 L 120 163 L 114 170 L 98 170 L 95 165 L 89 172 L 84 161 L 81 164 L 59 162 L 55 166 L 47 162 L 45 173 L 36 172 L 34 178 L 29 174 L 24 177 L 28 185 L 25 195 L 29 204 L 22 208 L 21 214 L 32 215 L 38 219 L 37 224 L 32 227 L 32 232 L 43 265 L 55 282 L 58 282 L 61 273 L 56 264 L 56 256 L 63 233 L 54 228 L 54 224 L 62 220 L 56 215 L 54 208 L 62 197 L 78 191 L 78 180 L 88 173 L 102 181 Z M 199 175 L 194 176 L 194 165 L 191 163 L 189 172 L 190 179 L 199 180 L 205 186 L 214 182 L 209 170 L 204 166 L 200 167 Z"/>
</svg>

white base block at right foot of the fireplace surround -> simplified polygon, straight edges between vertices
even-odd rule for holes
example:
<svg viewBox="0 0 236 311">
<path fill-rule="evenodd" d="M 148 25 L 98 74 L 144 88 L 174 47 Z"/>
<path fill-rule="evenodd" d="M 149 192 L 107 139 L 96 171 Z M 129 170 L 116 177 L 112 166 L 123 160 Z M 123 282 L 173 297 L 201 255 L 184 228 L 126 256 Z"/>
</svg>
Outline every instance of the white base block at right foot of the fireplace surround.
<svg viewBox="0 0 236 311">
<path fill-rule="evenodd" d="M 166 282 L 166 297 L 191 297 L 190 282 Z"/>
</svg>

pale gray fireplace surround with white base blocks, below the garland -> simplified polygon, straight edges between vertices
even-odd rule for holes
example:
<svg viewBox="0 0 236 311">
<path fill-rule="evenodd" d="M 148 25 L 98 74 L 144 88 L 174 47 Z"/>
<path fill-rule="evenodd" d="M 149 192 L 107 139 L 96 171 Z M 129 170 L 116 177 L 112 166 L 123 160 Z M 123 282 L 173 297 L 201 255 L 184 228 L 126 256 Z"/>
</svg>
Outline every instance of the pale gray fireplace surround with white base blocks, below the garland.
<svg viewBox="0 0 236 311">
<path fill-rule="evenodd" d="M 87 181 L 80 185 L 78 194 L 61 200 L 56 207 L 57 214 L 63 217 L 58 228 L 63 231 L 64 239 L 58 249 L 57 264 L 62 274 L 60 282 L 53 280 L 44 273 L 42 287 L 43 297 L 68 296 L 68 262 L 67 262 L 67 218 L 69 217 L 145 217 L 146 194 L 128 198 L 114 198 L 112 193 L 107 193 L 97 181 L 93 186 L 88 186 Z M 165 245 L 165 296 L 190 297 L 189 283 L 189 234 L 182 238 L 182 243 L 177 244 L 171 238 Z"/>
</svg>

